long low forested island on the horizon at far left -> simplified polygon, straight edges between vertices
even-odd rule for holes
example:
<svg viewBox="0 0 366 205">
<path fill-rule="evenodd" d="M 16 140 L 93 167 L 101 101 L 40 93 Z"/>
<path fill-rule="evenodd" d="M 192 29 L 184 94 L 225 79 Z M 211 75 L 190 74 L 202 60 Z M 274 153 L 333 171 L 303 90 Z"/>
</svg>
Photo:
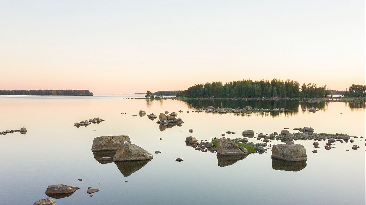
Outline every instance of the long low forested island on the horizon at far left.
<svg viewBox="0 0 366 205">
<path fill-rule="evenodd" d="M 93 95 L 89 90 L 0 90 L 0 95 Z"/>
</svg>

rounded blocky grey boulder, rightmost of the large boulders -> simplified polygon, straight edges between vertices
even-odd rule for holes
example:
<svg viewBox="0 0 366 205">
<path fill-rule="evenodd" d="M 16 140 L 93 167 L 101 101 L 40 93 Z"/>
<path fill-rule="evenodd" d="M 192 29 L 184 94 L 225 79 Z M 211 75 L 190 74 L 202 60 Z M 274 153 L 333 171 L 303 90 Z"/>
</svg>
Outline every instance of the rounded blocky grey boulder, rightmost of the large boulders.
<svg viewBox="0 0 366 205">
<path fill-rule="evenodd" d="M 306 149 L 301 144 L 276 144 L 272 147 L 272 157 L 290 162 L 306 160 Z"/>
</svg>

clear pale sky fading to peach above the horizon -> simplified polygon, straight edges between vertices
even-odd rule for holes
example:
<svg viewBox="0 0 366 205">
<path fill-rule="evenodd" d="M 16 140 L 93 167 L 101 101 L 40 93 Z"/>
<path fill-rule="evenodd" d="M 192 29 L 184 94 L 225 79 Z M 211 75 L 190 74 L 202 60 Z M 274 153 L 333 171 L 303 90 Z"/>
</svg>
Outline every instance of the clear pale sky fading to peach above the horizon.
<svg viewBox="0 0 366 205">
<path fill-rule="evenodd" d="M 0 1 L 0 90 L 366 84 L 365 0 Z"/>
</svg>

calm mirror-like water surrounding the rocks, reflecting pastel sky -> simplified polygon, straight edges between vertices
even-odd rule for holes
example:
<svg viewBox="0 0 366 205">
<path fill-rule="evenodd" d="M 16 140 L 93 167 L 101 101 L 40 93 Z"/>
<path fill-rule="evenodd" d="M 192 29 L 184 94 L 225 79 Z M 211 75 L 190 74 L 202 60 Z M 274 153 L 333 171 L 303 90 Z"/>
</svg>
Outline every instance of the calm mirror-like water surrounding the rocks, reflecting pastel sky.
<svg viewBox="0 0 366 205">
<path fill-rule="evenodd" d="M 185 112 L 208 105 L 292 111 L 273 115 Z M 320 111 L 301 111 L 313 107 Z M 324 149 L 327 141 L 319 142 L 317 154 L 311 152 L 315 149 L 314 141 L 297 141 L 307 150 L 307 162 L 296 166 L 272 162 L 270 150 L 250 154 L 237 162 L 218 159 L 216 154 L 186 146 L 184 139 L 194 136 L 210 140 L 226 131 L 239 133 L 227 137 L 242 138 L 245 129 L 269 134 L 284 127 L 289 127 L 290 132 L 292 128 L 313 127 L 317 133 L 366 136 L 365 107 L 365 102 L 143 100 L 127 99 L 125 95 L 0 96 L 1 131 L 22 127 L 28 130 L 26 135 L 0 135 L 0 204 L 33 204 L 49 198 L 45 195 L 48 185 L 63 183 L 82 189 L 70 197 L 56 199 L 57 205 L 364 205 L 365 138 L 356 138 L 354 143 L 336 142 L 336 148 L 328 151 Z M 138 115 L 139 110 L 156 115 L 182 110 L 178 117 L 184 123 L 160 131 L 156 120 L 131 116 Z M 95 117 L 105 121 L 80 128 L 72 124 Z M 189 133 L 188 129 L 194 132 Z M 129 135 L 132 143 L 150 153 L 162 153 L 153 154 L 154 158 L 145 165 L 101 164 L 91 145 L 93 138 L 106 135 Z M 255 138 L 249 140 L 260 142 Z M 352 150 L 353 144 L 360 148 Z M 350 151 L 346 152 L 347 149 Z M 176 158 L 184 161 L 176 162 Z M 89 197 L 88 186 L 101 191 Z"/>
</svg>

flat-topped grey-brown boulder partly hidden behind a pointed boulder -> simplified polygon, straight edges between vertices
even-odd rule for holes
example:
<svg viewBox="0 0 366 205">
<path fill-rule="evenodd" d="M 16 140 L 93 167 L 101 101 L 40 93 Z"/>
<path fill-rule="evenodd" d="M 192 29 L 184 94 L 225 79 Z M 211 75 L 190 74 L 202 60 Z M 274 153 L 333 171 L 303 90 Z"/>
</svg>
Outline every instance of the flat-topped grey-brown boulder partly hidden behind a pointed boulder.
<svg viewBox="0 0 366 205">
<path fill-rule="evenodd" d="M 124 141 L 131 143 L 128 135 L 101 136 L 94 138 L 91 151 L 118 150 Z"/>
</svg>

